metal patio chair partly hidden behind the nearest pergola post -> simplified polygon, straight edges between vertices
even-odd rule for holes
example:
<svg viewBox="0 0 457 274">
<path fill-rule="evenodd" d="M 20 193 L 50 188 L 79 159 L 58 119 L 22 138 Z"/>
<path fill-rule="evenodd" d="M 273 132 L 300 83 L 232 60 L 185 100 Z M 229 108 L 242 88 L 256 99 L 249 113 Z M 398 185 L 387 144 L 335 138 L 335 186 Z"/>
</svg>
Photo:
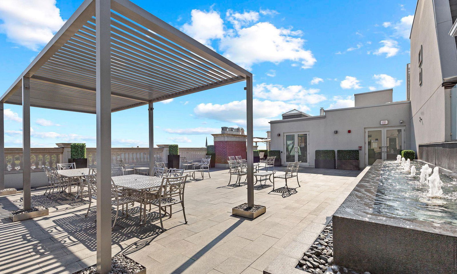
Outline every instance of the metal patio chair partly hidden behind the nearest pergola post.
<svg viewBox="0 0 457 274">
<path fill-rule="evenodd" d="M 87 212 L 85 217 L 89 215 L 90 205 L 92 204 L 92 199 L 97 200 L 97 182 L 96 182 L 96 175 L 84 175 L 84 180 L 87 184 L 89 189 L 89 206 L 87 207 Z M 112 224 L 112 228 L 116 225 L 117 216 L 119 215 L 119 206 L 122 205 L 122 215 L 124 215 L 124 205 L 126 207 L 126 216 L 128 216 L 128 205 L 133 204 L 135 202 L 140 203 L 140 210 L 141 210 L 141 196 L 134 195 L 136 192 L 128 193 L 126 191 L 121 191 L 116 187 L 114 181 L 111 179 L 111 205 L 116 206 L 116 216 L 114 217 L 114 222 Z M 141 212 L 140 212 L 141 216 Z"/>
</svg>

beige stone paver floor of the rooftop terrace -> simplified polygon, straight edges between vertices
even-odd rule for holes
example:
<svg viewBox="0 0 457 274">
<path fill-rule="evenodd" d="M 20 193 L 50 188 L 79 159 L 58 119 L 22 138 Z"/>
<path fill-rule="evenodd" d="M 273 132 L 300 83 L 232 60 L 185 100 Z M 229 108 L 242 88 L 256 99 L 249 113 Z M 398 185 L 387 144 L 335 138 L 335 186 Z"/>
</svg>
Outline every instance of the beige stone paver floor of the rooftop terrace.
<svg viewBox="0 0 457 274">
<path fill-rule="evenodd" d="M 301 187 L 287 198 L 257 185 L 255 202 L 267 211 L 248 220 L 231 215 L 232 207 L 245 202 L 246 186 L 227 186 L 227 170 L 213 169 L 211 179 L 205 174 L 204 180 L 186 184 L 187 224 L 180 206 L 165 219 L 165 232 L 154 208 L 147 226 L 138 226 L 138 204 L 128 217 L 120 215 L 112 231 L 112 255 L 124 253 L 152 274 L 260 274 L 297 235 L 322 230 L 359 173 L 301 168 Z M 298 186 L 294 179 L 289 187 Z M 14 223 L 9 211 L 21 206 L 22 195 L 0 197 L 1 274 L 73 273 L 96 263 L 95 204 L 85 218 L 87 199 L 66 194 L 48 199 L 43 192 L 32 190 L 32 203 L 48 207 L 49 216 Z"/>
</svg>

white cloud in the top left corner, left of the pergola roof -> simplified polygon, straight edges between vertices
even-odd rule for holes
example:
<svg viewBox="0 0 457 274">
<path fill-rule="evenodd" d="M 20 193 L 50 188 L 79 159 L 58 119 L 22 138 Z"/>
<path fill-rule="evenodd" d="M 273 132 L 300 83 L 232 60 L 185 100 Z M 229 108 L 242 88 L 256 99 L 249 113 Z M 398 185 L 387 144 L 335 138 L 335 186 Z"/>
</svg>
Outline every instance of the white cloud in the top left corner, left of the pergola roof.
<svg viewBox="0 0 457 274">
<path fill-rule="evenodd" d="M 37 51 L 54 36 L 65 21 L 56 0 L 1 0 L 0 31 L 9 41 Z"/>
</svg>

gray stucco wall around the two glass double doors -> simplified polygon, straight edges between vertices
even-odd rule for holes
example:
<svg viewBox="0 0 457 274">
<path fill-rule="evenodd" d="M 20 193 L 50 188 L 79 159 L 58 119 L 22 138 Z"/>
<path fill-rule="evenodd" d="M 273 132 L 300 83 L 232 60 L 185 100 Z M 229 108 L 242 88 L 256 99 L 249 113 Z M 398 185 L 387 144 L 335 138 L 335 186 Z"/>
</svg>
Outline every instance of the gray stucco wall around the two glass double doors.
<svg viewBox="0 0 457 274">
<path fill-rule="evenodd" d="M 340 109 L 325 111 L 322 119 L 317 116 L 313 120 L 290 119 L 271 121 L 271 149 L 280 150 L 282 163 L 285 163 L 284 132 L 309 132 L 308 158 L 309 165 L 314 166 L 315 150 L 317 149 L 358 149 L 360 152 L 360 167 L 365 167 L 365 129 L 384 127 L 381 120 L 388 120 L 386 127 L 404 126 L 405 145 L 403 149 L 410 149 L 411 116 L 409 101 L 392 103 L 380 106 Z M 302 120 L 302 121 L 300 121 Z M 403 120 L 403 123 L 400 123 Z M 335 134 L 334 131 L 338 133 Z M 351 130 L 351 133 L 347 133 Z M 281 136 L 277 136 L 280 133 Z"/>
</svg>

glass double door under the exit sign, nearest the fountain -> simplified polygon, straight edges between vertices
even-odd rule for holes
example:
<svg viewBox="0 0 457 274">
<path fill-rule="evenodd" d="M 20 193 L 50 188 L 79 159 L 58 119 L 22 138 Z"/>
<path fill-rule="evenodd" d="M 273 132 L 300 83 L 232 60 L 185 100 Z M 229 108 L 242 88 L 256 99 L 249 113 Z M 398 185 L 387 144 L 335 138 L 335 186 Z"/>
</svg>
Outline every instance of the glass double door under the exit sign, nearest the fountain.
<svg viewBox="0 0 457 274">
<path fill-rule="evenodd" d="M 366 129 L 366 163 L 377 159 L 394 160 L 404 147 L 404 127 Z"/>
</svg>

